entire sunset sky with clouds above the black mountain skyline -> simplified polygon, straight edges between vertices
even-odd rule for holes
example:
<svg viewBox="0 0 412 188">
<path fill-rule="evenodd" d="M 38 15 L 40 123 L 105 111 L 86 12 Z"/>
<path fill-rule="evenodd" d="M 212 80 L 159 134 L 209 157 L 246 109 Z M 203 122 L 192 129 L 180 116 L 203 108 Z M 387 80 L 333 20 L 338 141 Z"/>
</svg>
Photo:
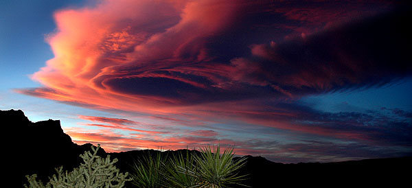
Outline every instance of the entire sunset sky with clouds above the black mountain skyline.
<svg viewBox="0 0 412 188">
<path fill-rule="evenodd" d="M 0 109 L 107 152 L 412 155 L 404 1 L 0 1 Z M 12 134 L 19 134 L 14 132 Z"/>
</svg>

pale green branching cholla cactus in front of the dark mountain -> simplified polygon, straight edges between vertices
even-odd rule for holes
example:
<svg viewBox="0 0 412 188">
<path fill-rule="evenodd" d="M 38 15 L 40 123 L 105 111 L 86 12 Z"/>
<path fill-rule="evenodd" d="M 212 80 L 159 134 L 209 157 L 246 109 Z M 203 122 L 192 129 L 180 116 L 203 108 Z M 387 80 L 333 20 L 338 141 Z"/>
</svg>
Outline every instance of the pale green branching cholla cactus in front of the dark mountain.
<svg viewBox="0 0 412 188">
<path fill-rule="evenodd" d="M 63 172 L 62 167 L 57 168 L 57 176 L 53 175 L 46 185 L 36 180 L 36 174 L 26 176 L 28 187 L 124 187 L 124 183 L 130 180 L 127 178 L 128 173 L 119 173 L 119 169 L 113 165 L 117 158 L 111 161 L 109 155 L 106 159 L 98 156 L 99 148 L 100 144 L 97 148 L 92 145 L 93 154 L 90 151 L 81 154 L 84 163 L 72 172 Z"/>
</svg>

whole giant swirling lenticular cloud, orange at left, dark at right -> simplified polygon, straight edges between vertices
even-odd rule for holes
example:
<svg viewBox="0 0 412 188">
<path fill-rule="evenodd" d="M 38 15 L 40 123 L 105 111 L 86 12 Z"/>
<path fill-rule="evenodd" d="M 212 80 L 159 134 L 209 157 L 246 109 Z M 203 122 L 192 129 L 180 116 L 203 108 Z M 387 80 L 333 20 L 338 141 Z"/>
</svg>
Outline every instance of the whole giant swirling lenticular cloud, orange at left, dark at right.
<svg viewBox="0 0 412 188">
<path fill-rule="evenodd" d="M 402 26 L 393 22 L 402 15 L 373 17 L 390 3 L 351 3 L 342 10 L 330 3 L 324 11 L 319 5 L 102 1 L 60 10 L 54 14 L 57 30 L 47 38 L 55 57 L 32 75 L 44 87 L 20 92 L 91 108 L 161 113 L 376 86 L 411 72 L 398 61 L 407 59 L 397 50 L 407 43 L 400 40 Z M 341 24 L 361 16 L 372 19 Z"/>
</svg>

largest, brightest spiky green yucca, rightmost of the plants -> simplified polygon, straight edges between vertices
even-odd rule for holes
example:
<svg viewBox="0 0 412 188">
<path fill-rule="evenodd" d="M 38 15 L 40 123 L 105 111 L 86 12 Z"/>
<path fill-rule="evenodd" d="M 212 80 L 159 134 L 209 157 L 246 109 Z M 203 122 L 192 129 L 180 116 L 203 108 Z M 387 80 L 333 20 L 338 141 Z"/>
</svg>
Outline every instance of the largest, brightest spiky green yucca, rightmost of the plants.
<svg viewBox="0 0 412 188">
<path fill-rule="evenodd" d="M 242 185 L 240 182 L 247 175 L 239 175 L 239 169 L 244 166 L 246 158 L 233 160 L 233 148 L 226 148 L 220 154 L 220 145 L 216 150 L 210 145 L 201 149 L 201 155 L 195 156 L 196 171 L 190 175 L 201 180 L 200 187 L 229 187 L 230 185 Z M 246 186 L 246 185 L 243 185 Z M 247 186 L 246 186 L 247 187 Z"/>
</svg>

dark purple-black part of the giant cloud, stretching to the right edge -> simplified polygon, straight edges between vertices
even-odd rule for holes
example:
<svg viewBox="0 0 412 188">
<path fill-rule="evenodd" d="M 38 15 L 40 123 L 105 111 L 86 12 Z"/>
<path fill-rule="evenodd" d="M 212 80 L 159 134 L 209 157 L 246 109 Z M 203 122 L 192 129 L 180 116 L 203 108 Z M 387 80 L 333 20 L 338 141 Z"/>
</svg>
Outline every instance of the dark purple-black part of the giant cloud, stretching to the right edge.
<svg viewBox="0 0 412 188">
<path fill-rule="evenodd" d="M 275 30 L 257 29 L 260 23 L 254 16 L 262 14 L 260 18 L 265 18 L 268 13 L 253 12 L 251 18 L 249 14 L 241 16 L 246 21 L 234 21 L 221 34 L 207 37 L 201 49 L 209 58 L 193 62 L 201 51 L 190 55 L 193 49 L 183 47 L 174 60 L 145 67 L 122 66 L 118 72 L 127 73 L 124 78 L 118 74 L 115 78 L 104 76 L 103 83 L 115 92 L 164 97 L 178 104 L 300 97 L 382 86 L 411 75 L 407 49 L 411 35 L 404 24 L 410 18 L 408 11 L 398 9 L 356 23 L 330 26 L 279 44 L 268 40 L 278 34 Z M 262 25 L 282 20 L 282 15 L 277 17 L 263 19 Z M 257 43 L 264 41 L 262 37 L 266 44 Z"/>
</svg>

